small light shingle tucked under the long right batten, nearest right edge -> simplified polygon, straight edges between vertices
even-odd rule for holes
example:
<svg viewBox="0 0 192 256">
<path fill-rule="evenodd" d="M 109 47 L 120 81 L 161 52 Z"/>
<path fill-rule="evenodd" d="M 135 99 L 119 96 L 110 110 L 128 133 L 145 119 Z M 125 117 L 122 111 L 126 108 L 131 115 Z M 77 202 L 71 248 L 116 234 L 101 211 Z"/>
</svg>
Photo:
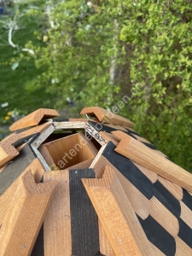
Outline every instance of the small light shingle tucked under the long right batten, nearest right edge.
<svg viewBox="0 0 192 256">
<path fill-rule="evenodd" d="M 164 177 L 158 176 L 158 180 L 167 190 L 169 190 L 170 193 L 172 193 L 172 195 L 174 195 L 177 198 L 177 200 L 182 200 L 183 189 L 180 186 L 178 186 L 175 183 L 172 183 L 171 181 L 167 180 Z"/>
</svg>

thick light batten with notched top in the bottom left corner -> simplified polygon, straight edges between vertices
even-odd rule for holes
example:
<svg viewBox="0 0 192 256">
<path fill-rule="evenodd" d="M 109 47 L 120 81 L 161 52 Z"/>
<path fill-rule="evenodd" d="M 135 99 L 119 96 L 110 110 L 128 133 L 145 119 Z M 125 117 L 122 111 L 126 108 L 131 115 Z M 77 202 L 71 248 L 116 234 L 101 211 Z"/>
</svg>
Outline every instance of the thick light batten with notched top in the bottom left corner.
<svg viewBox="0 0 192 256">
<path fill-rule="evenodd" d="M 1 256 L 32 253 L 54 189 L 54 182 L 35 183 L 31 172 L 21 178 L 1 227 Z"/>
</svg>

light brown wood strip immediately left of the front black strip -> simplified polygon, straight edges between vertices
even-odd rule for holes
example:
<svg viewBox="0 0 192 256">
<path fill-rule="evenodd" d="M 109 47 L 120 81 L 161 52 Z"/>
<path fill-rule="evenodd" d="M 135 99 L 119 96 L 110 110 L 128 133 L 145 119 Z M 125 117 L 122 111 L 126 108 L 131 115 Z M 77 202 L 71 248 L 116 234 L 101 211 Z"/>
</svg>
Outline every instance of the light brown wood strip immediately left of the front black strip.
<svg viewBox="0 0 192 256">
<path fill-rule="evenodd" d="M 44 181 L 55 181 L 53 200 L 44 218 L 44 256 L 72 255 L 69 172 L 45 172 Z"/>
</svg>

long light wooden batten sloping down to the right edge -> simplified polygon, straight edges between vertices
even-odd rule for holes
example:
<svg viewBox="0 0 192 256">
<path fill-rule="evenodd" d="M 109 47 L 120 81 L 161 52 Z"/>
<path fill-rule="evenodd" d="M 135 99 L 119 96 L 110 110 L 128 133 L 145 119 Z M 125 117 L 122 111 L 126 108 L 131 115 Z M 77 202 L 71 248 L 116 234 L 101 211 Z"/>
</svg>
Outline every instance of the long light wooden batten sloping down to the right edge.
<svg viewBox="0 0 192 256">
<path fill-rule="evenodd" d="M 116 152 L 192 192 L 191 173 L 154 152 L 154 150 L 146 147 L 143 143 L 138 142 L 123 131 L 113 131 L 113 134 L 121 139 L 119 145 L 115 148 Z"/>
</svg>

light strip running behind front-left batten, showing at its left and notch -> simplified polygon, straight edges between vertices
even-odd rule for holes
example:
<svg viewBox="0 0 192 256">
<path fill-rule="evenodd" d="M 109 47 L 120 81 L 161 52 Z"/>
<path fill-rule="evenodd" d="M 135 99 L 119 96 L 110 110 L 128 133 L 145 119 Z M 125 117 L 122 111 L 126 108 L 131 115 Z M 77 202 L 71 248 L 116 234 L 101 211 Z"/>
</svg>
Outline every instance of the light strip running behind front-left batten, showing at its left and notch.
<svg viewBox="0 0 192 256">
<path fill-rule="evenodd" d="M 35 159 L 32 161 L 32 163 L 26 168 L 24 172 L 21 173 L 19 177 L 15 179 L 15 182 L 12 183 L 12 185 L 7 189 L 3 195 L 0 196 L 0 225 L 3 224 L 3 219 L 5 218 L 5 215 L 8 212 L 9 206 L 11 201 L 13 200 L 13 197 L 15 195 L 15 190 L 18 187 L 18 184 L 20 183 L 20 179 L 23 177 L 26 172 L 31 171 L 33 177 L 35 178 L 35 181 L 39 183 L 41 178 L 44 175 L 44 168 L 39 162 L 38 159 Z"/>
</svg>

